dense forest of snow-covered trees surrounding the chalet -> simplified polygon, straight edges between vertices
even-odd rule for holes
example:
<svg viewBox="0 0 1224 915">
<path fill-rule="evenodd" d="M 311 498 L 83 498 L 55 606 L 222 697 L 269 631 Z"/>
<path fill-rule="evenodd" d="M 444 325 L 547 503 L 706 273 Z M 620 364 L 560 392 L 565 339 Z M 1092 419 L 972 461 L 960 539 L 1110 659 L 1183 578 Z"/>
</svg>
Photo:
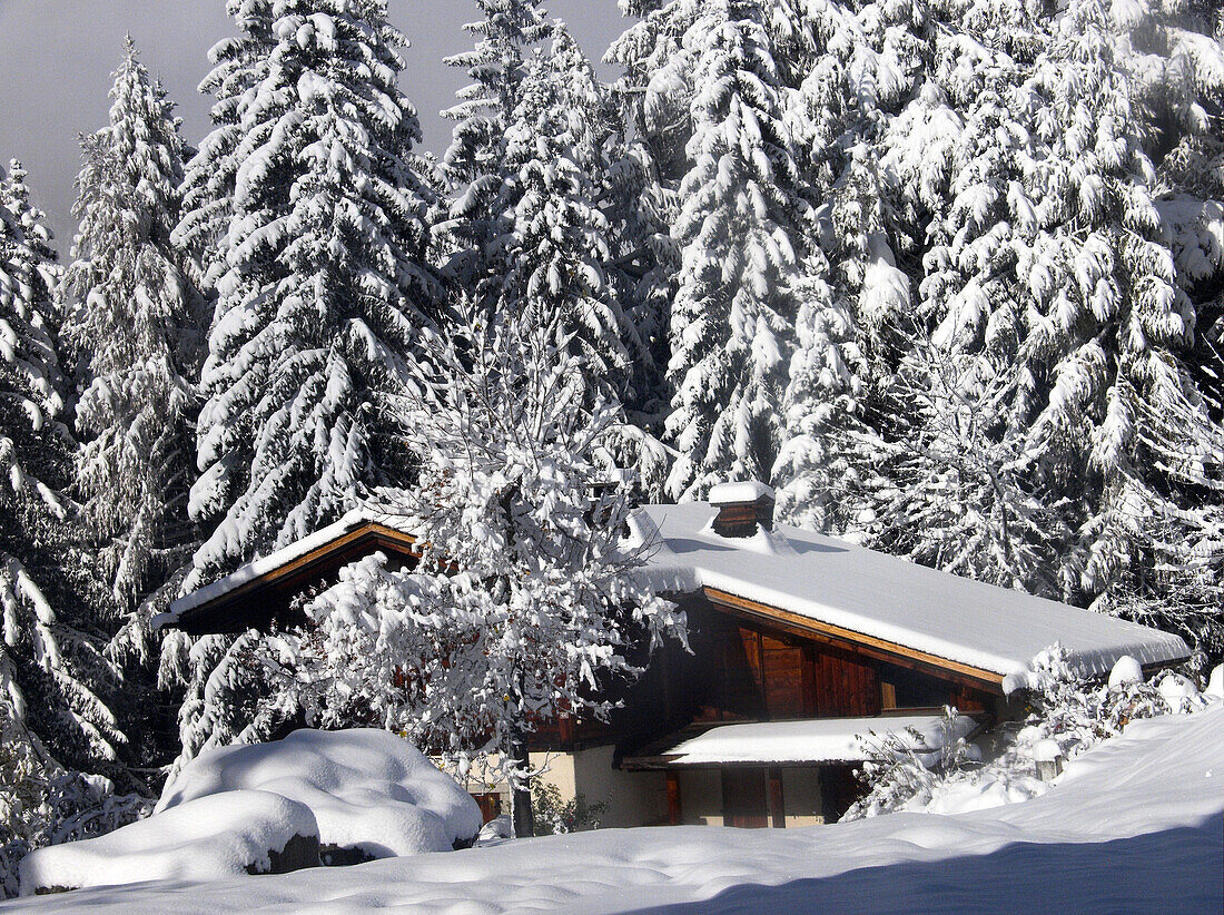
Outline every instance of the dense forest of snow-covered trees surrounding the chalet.
<svg viewBox="0 0 1224 915">
<path fill-rule="evenodd" d="M 619 5 L 601 81 L 540 5 L 476 0 L 435 157 L 386 0 L 228 0 L 207 136 L 129 42 L 67 256 L 0 174 L 6 889 L 202 750 L 343 725 L 388 679 L 337 674 L 371 657 L 354 605 L 449 608 L 393 632 L 422 664 L 496 633 L 497 677 L 376 709 L 431 741 L 628 670 L 629 628 L 683 621 L 614 533 L 725 481 L 1224 658 L 1217 4 Z M 315 634 L 155 625 L 379 500 L 433 574 L 366 562 Z M 523 674 L 514 609 L 548 600 Z"/>
</svg>

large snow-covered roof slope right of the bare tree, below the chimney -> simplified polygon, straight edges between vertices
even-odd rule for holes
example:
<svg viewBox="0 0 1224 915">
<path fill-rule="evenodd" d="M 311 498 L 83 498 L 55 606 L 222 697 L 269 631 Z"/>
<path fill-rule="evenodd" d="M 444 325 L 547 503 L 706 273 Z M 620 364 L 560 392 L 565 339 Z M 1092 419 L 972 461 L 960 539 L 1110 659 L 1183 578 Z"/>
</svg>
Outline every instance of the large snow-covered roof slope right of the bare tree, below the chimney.
<svg viewBox="0 0 1224 915">
<path fill-rule="evenodd" d="M 1024 670 L 1054 642 L 1082 676 L 1108 674 L 1122 655 L 1144 665 L 1190 655 L 1166 632 L 787 524 L 723 538 L 711 527 L 716 511 L 690 502 L 645 506 L 635 516 L 633 541 L 646 551 L 644 574 L 655 588 L 725 592 L 1000 677 Z"/>
</svg>

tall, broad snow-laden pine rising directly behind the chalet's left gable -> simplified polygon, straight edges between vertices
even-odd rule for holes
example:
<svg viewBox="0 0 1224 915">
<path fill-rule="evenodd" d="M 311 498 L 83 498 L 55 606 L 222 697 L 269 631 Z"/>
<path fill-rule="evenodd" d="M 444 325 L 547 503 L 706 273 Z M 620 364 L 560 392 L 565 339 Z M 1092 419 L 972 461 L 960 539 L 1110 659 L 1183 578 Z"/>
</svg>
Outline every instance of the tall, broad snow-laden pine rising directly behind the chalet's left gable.
<svg viewBox="0 0 1224 915">
<path fill-rule="evenodd" d="M 218 296 L 191 491 L 213 533 L 188 589 L 401 478 L 383 407 L 437 299 L 432 179 L 384 0 L 228 9 L 240 37 L 212 53 L 218 126 L 175 235 Z"/>
</svg>

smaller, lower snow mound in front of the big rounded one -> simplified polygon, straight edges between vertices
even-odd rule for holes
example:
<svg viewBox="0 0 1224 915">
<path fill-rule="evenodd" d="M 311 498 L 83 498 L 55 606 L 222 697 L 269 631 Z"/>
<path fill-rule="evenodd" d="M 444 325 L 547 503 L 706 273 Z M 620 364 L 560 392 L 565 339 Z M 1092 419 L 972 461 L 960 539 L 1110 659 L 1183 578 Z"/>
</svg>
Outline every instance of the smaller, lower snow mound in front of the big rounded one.
<svg viewBox="0 0 1224 915">
<path fill-rule="evenodd" d="M 32 851 L 21 862 L 21 892 L 198 882 L 317 864 L 318 827 L 306 805 L 267 791 L 228 791 L 97 839 Z"/>
</svg>

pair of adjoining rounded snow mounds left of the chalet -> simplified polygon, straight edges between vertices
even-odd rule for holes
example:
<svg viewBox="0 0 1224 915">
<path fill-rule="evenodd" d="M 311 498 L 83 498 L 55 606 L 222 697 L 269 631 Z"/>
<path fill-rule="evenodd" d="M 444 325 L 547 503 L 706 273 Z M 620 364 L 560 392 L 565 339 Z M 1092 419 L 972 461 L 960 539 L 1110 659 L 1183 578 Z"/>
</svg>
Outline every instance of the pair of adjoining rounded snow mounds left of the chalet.
<svg viewBox="0 0 1224 915">
<path fill-rule="evenodd" d="M 482 817 L 471 796 L 387 731 L 302 730 L 203 753 L 148 819 L 34 851 L 24 895 L 140 881 L 215 881 L 450 851 Z"/>
</svg>

